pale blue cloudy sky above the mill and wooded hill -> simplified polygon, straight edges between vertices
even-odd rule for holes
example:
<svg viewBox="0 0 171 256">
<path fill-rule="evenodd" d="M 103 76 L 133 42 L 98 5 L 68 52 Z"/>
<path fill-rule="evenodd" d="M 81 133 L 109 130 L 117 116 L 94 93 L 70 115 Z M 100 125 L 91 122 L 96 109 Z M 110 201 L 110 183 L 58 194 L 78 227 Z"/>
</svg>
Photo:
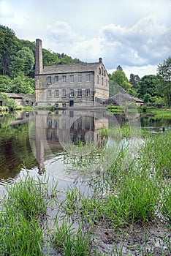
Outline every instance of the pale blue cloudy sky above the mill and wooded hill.
<svg viewBox="0 0 171 256">
<path fill-rule="evenodd" d="M 170 14 L 171 0 L 0 0 L 0 23 L 18 38 L 81 61 L 102 57 L 128 79 L 156 75 L 171 55 Z"/>
</svg>

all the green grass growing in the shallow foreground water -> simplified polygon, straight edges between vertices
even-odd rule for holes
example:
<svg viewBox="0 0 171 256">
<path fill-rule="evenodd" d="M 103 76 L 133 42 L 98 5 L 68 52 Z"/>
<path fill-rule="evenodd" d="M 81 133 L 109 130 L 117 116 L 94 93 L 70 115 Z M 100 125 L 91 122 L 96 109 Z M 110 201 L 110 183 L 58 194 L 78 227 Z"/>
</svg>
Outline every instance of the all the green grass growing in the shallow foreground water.
<svg viewBox="0 0 171 256">
<path fill-rule="evenodd" d="M 121 137 L 130 136 L 128 127 L 121 129 Z M 106 129 L 102 134 L 110 136 Z M 111 134 L 117 138 L 118 131 L 113 128 Z M 56 186 L 49 187 L 46 179 L 31 178 L 28 174 L 13 185 L 7 185 L 7 197 L 1 201 L 0 255 L 45 255 L 45 252 L 50 255 L 50 247 L 56 255 L 100 255 L 93 239 L 96 227 L 117 232 L 137 223 L 141 227 L 152 225 L 159 218 L 170 225 L 171 131 L 142 132 L 140 136 L 142 141 L 134 154 L 129 144 L 118 148 L 116 155 L 113 150 L 103 149 L 105 165 L 101 172 L 89 178 L 91 194 L 85 195 L 77 187 L 69 187 L 66 198 L 58 204 L 63 219 L 58 216 L 53 219 L 53 230 L 47 227 L 47 208 L 57 203 Z M 75 151 L 69 148 L 69 153 L 84 154 L 84 145 L 73 148 Z M 94 147 L 89 147 L 91 149 Z M 86 157 L 83 164 L 84 161 Z M 81 166 L 81 162 L 74 164 Z M 169 252 L 167 238 L 165 244 Z M 115 245 L 111 255 L 122 255 L 123 247 Z M 146 255 L 145 246 L 137 244 L 136 248 Z M 162 253 L 164 255 L 161 248 Z"/>
</svg>

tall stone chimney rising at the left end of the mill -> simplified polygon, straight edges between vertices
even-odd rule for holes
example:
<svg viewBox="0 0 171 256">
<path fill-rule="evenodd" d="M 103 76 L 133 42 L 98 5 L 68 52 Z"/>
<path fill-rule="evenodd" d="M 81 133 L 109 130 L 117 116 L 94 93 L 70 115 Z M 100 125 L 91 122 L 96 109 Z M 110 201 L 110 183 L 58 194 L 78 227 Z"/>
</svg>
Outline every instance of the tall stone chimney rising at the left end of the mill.
<svg viewBox="0 0 171 256">
<path fill-rule="evenodd" d="M 36 39 L 36 61 L 35 61 L 35 75 L 42 72 L 42 40 Z"/>
</svg>

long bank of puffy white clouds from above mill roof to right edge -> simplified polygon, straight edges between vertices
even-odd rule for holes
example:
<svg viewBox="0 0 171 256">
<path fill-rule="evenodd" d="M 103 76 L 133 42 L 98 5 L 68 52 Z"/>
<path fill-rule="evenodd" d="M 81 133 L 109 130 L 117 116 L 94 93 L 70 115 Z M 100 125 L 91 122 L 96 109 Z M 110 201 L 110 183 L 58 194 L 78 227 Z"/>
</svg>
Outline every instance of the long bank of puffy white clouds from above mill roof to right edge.
<svg viewBox="0 0 171 256">
<path fill-rule="evenodd" d="M 98 61 L 102 56 L 108 69 L 119 64 L 130 67 L 152 67 L 170 55 L 171 29 L 150 16 L 131 27 L 109 24 L 102 26 L 99 36 L 81 37 L 67 23 L 57 21 L 47 28 L 49 45 L 55 51 L 83 61 Z M 151 65 L 151 66 L 149 66 Z"/>
</svg>

